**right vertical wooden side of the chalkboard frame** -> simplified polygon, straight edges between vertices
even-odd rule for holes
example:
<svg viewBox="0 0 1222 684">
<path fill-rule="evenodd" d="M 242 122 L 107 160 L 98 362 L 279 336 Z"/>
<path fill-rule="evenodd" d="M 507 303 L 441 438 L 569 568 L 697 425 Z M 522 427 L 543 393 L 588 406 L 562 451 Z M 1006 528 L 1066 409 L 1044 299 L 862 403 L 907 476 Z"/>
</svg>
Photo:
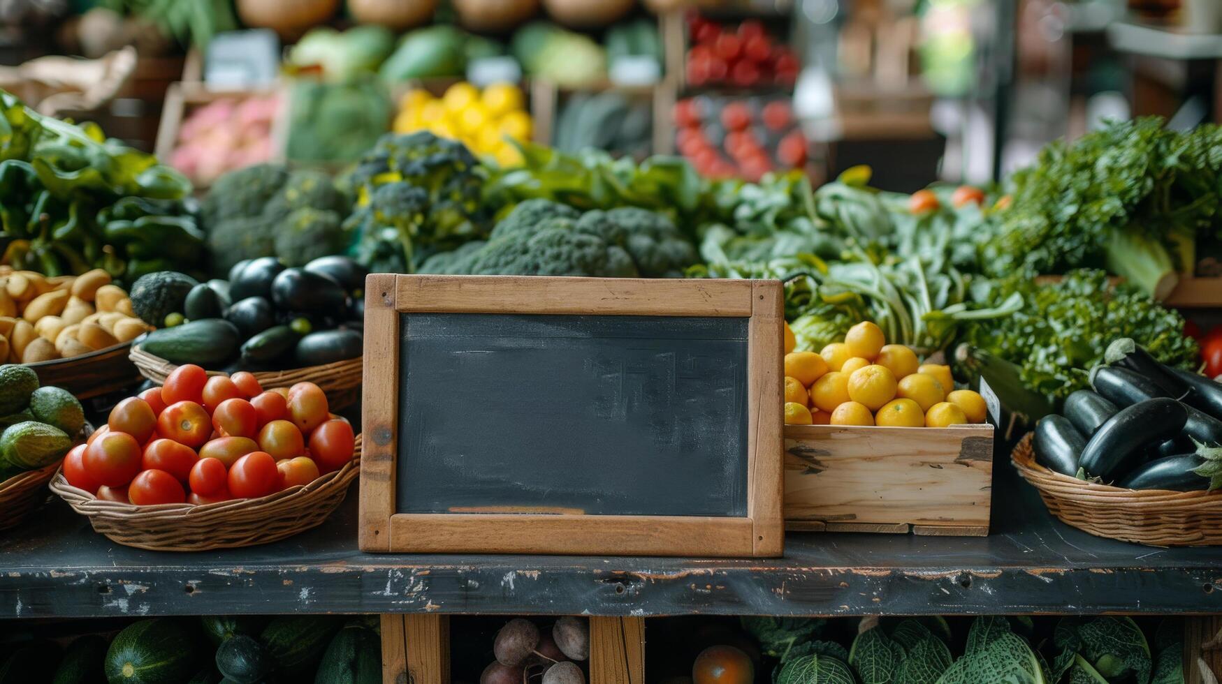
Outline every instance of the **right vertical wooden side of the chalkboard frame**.
<svg viewBox="0 0 1222 684">
<path fill-rule="evenodd" d="M 785 298 L 780 281 L 752 281 L 752 322 L 748 343 L 747 435 L 748 514 L 754 523 L 755 556 L 785 551 L 785 474 L 782 471 L 781 402 L 785 341 Z"/>
</svg>

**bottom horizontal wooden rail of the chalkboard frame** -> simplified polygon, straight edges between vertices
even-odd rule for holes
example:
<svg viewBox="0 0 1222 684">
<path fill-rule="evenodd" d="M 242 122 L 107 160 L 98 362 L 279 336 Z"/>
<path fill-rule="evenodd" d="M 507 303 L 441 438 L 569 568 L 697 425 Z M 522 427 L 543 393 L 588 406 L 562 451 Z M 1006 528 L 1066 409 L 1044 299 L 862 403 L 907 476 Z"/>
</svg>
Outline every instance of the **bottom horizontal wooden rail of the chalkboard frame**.
<svg viewBox="0 0 1222 684">
<path fill-rule="evenodd" d="M 753 529 L 749 518 L 396 513 L 390 544 L 419 553 L 750 556 Z"/>
</svg>

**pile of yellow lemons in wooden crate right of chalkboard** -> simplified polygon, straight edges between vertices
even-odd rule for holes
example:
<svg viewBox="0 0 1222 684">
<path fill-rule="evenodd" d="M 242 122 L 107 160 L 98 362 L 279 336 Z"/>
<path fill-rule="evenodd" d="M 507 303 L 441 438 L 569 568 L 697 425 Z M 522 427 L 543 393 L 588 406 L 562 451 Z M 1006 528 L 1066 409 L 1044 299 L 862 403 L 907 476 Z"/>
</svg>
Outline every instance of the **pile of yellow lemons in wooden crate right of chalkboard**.
<svg viewBox="0 0 1222 684">
<path fill-rule="evenodd" d="M 787 425 L 946 428 L 985 421 L 985 399 L 956 390 L 951 366 L 924 364 L 882 330 L 863 321 L 820 353 L 794 352 L 785 326 Z"/>
</svg>

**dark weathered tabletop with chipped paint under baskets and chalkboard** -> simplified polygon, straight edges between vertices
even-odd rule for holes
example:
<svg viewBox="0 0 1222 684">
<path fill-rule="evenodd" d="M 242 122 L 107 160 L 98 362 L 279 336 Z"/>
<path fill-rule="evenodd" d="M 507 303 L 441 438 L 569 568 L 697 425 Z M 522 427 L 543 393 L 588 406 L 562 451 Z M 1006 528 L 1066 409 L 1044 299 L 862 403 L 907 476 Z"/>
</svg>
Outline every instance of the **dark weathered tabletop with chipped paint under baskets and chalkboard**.
<svg viewBox="0 0 1222 684">
<path fill-rule="evenodd" d="M 996 490 L 989 537 L 791 534 L 772 561 L 367 555 L 356 489 L 293 539 L 163 553 L 115 545 L 55 500 L 0 533 L 0 617 L 1222 613 L 1222 548 L 1151 548 L 1063 525 L 1004 457 Z"/>
</svg>

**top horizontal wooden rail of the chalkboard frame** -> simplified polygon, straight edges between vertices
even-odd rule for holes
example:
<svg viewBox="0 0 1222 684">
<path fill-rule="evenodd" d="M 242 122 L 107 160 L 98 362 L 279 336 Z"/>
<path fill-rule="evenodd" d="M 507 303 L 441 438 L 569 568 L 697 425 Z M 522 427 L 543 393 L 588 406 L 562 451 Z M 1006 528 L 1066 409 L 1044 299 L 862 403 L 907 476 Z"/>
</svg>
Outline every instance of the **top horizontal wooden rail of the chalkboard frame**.
<svg viewBox="0 0 1222 684">
<path fill-rule="evenodd" d="M 400 311 L 750 316 L 752 281 L 396 276 Z M 367 309 L 368 310 L 368 309 Z"/>
</svg>

